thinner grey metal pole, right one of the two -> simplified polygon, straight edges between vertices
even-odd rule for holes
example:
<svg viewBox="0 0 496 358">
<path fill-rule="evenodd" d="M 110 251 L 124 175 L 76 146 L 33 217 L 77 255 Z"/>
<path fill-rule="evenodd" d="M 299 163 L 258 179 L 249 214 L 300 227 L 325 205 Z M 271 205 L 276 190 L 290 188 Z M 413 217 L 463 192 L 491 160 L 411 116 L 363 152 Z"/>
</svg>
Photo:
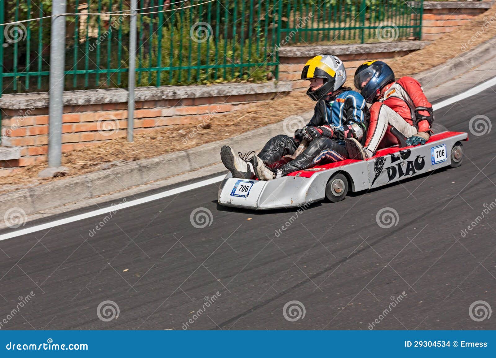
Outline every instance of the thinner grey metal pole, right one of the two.
<svg viewBox="0 0 496 358">
<path fill-rule="evenodd" d="M 136 66 L 136 9 L 137 0 L 131 0 L 131 21 L 129 24 L 129 72 L 127 87 L 127 141 L 133 141 L 134 130 L 134 68 Z"/>
</svg>

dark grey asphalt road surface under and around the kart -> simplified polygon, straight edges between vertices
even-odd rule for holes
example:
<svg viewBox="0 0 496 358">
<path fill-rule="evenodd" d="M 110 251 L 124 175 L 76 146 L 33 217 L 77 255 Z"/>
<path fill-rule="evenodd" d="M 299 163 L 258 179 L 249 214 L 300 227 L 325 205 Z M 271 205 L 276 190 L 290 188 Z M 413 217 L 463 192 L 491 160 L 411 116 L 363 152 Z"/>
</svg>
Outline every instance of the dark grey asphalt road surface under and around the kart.
<svg viewBox="0 0 496 358">
<path fill-rule="evenodd" d="M 476 301 L 496 309 L 495 95 L 435 113 L 454 131 L 491 118 L 490 133 L 469 133 L 456 169 L 301 213 L 223 208 L 210 185 L 1 241 L 0 328 L 496 329 L 495 316 L 469 314 Z M 190 221 L 198 207 L 212 213 L 204 228 Z M 383 207 L 398 212 L 396 226 L 378 226 Z M 104 301 L 119 306 L 110 321 L 97 314 Z M 284 317 L 290 301 L 303 318 Z"/>
</svg>

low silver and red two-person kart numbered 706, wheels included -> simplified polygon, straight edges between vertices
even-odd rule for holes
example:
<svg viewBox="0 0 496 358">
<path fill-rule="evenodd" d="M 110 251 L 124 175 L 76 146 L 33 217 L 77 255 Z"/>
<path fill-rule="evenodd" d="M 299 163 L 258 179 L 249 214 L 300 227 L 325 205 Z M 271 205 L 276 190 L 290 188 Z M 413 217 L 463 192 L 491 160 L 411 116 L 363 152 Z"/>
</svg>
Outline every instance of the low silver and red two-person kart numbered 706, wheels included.
<svg viewBox="0 0 496 358">
<path fill-rule="evenodd" d="M 435 124 L 435 123 L 434 123 Z M 218 203 L 247 209 L 275 209 L 302 206 L 327 199 L 339 202 L 349 190 L 377 188 L 445 166 L 456 168 L 463 160 L 461 141 L 465 132 L 438 130 L 424 145 L 407 146 L 405 138 L 393 132 L 399 145 L 384 148 L 368 160 L 346 159 L 298 170 L 269 181 L 233 178 L 228 173 L 219 188 Z"/>
</svg>

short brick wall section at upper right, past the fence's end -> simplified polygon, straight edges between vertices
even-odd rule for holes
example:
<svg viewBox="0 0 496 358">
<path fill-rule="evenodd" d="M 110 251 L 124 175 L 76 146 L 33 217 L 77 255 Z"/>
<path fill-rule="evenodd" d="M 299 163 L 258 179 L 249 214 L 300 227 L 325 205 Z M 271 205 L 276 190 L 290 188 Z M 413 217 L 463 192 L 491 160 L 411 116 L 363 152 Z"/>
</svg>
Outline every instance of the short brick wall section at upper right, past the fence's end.
<svg viewBox="0 0 496 358">
<path fill-rule="evenodd" d="M 422 40 L 437 40 L 491 8 L 492 1 L 424 1 Z"/>
</svg>

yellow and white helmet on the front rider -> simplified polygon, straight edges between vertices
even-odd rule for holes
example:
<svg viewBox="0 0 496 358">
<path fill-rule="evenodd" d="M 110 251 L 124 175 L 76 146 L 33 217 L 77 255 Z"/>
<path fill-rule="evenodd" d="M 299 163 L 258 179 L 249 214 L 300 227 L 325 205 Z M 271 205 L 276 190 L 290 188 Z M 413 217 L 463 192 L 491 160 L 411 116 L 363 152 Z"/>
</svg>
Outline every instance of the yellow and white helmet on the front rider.
<svg viewBox="0 0 496 358">
<path fill-rule="evenodd" d="M 313 101 L 320 101 L 346 82 L 346 70 L 343 61 L 332 54 L 320 54 L 307 61 L 302 71 L 302 80 L 323 78 L 324 85 L 315 91 L 310 89 L 307 95 Z"/>
</svg>

